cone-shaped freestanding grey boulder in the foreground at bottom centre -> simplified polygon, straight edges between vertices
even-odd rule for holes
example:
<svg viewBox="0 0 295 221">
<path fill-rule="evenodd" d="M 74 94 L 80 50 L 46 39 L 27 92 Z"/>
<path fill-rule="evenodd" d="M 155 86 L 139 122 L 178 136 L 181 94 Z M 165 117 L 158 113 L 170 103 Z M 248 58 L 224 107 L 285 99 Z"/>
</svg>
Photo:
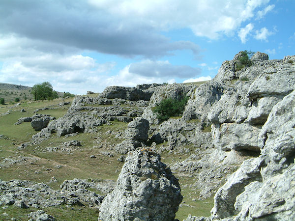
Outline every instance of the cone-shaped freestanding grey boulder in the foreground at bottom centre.
<svg viewBox="0 0 295 221">
<path fill-rule="evenodd" d="M 117 186 L 103 200 L 99 220 L 174 220 L 182 200 L 177 178 L 155 152 L 129 152 Z"/>
</svg>

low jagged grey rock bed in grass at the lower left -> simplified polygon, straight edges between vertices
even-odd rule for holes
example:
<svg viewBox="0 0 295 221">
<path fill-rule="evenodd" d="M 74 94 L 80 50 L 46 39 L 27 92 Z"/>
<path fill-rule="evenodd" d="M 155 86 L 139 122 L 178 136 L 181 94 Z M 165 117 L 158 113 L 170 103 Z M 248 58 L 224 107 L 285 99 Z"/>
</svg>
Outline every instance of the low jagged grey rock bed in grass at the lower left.
<svg viewBox="0 0 295 221">
<path fill-rule="evenodd" d="M 97 206 L 104 196 L 88 190 L 88 188 L 109 193 L 114 186 L 113 181 L 74 179 L 66 180 L 61 190 L 53 190 L 44 183 L 27 180 L 0 180 L 0 205 L 15 205 L 22 208 L 40 208 L 59 205 Z"/>
</svg>

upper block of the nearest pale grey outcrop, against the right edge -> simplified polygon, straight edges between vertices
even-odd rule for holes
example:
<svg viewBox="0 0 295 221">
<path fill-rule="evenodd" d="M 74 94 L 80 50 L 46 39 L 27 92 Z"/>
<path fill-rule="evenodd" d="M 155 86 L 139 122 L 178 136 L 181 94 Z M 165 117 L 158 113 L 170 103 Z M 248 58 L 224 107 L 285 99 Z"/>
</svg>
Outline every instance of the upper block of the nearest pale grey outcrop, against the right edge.
<svg viewBox="0 0 295 221">
<path fill-rule="evenodd" d="M 271 177 L 282 172 L 294 159 L 295 150 L 295 91 L 276 104 L 259 134 L 261 153 L 267 166 L 262 174 Z"/>
</svg>

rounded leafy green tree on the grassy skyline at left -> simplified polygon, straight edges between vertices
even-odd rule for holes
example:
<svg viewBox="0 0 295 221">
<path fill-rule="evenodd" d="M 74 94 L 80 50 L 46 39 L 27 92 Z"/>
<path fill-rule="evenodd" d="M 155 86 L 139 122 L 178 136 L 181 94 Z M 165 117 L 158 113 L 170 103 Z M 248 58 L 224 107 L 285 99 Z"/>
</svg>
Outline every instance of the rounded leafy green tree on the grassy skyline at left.
<svg viewBox="0 0 295 221">
<path fill-rule="evenodd" d="M 59 97 L 58 93 L 52 89 L 52 85 L 49 82 L 35 84 L 31 89 L 31 94 L 34 95 L 35 101 L 53 100 Z"/>
</svg>

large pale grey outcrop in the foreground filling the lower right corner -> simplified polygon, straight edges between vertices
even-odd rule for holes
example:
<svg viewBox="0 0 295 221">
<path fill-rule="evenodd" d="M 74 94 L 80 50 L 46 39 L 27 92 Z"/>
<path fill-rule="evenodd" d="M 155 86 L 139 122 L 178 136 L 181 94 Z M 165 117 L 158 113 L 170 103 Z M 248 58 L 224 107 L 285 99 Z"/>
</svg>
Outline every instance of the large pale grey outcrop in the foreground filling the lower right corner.
<svg viewBox="0 0 295 221">
<path fill-rule="evenodd" d="M 217 191 L 210 219 L 295 218 L 294 107 L 295 91 L 272 108 L 259 134 L 261 155 L 244 161 Z"/>
</svg>

